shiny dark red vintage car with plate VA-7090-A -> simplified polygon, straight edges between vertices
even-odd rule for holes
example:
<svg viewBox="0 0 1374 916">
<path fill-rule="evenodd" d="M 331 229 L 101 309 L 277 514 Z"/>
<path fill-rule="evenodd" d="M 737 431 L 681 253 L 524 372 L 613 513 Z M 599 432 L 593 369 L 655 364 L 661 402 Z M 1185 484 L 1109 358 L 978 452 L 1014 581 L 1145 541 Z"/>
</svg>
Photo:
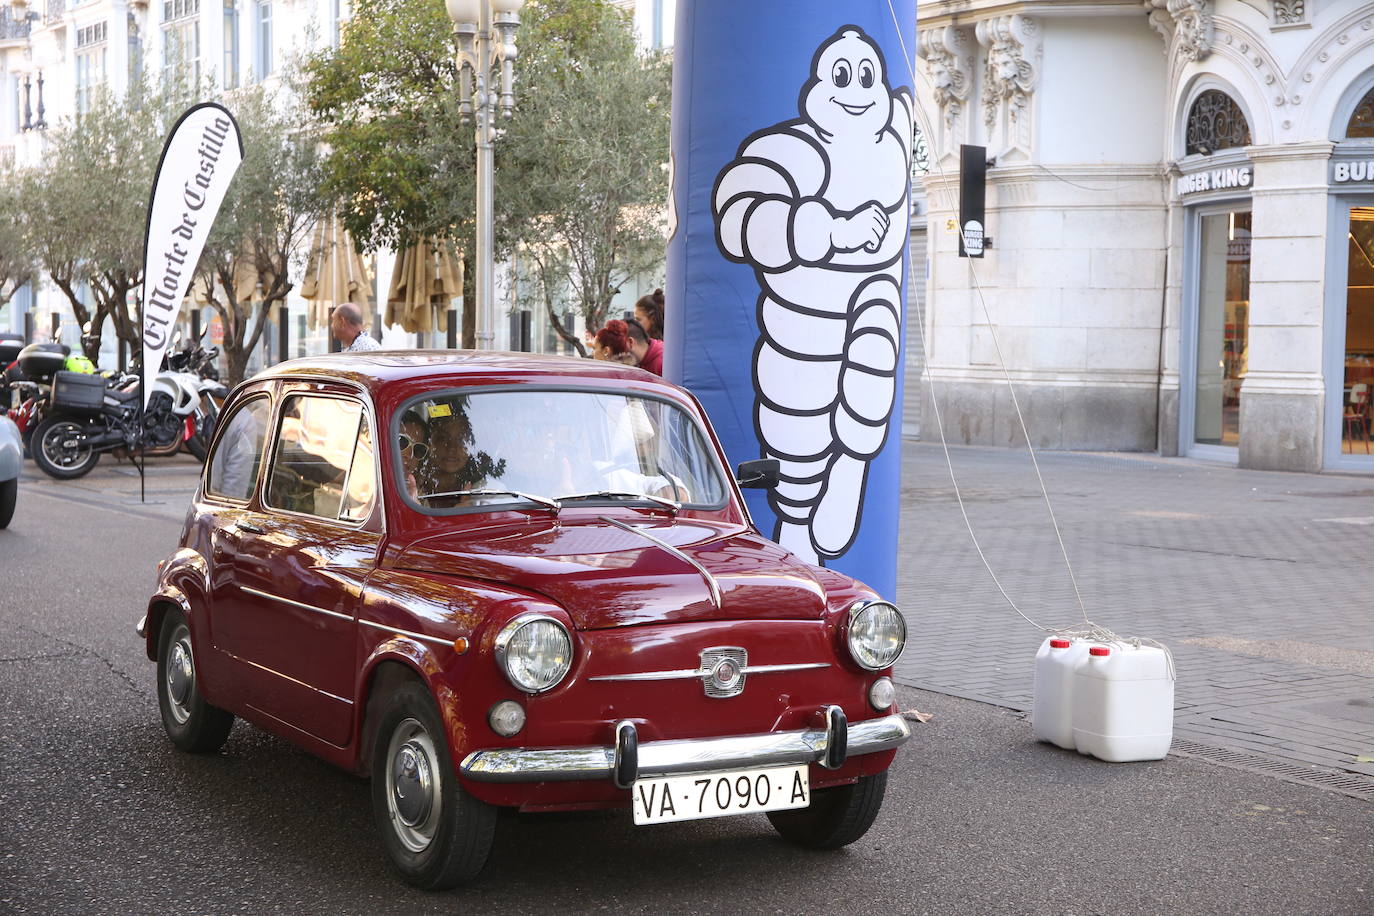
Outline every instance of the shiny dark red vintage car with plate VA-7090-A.
<svg viewBox="0 0 1374 916">
<path fill-rule="evenodd" d="M 234 717 L 370 775 L 419 887 L 499 808 L 636 824 L 765 812 L 859 839 L 910 736 L 893 604 L 763 537 L 688 393 L 611 363 L 374 352 L 225 404 L 139 634 L 162 724 Z"/>
</svg>

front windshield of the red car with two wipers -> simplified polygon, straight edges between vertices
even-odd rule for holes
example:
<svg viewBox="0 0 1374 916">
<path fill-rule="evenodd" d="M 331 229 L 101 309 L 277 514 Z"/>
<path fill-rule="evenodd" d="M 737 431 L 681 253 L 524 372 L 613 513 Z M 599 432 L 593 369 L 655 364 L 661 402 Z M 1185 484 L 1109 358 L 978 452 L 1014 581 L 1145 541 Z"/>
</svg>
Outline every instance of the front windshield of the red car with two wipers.
<svg viewBox="0 0 1374 916">
<path fill-rule="evenodd" d="M 620 393 L 445 393 L 403 409 L 396 433 L 408 499 L 425 511 L 534 501 L 719 507 L 714 452 L 668 401 Z"/>
</svg>

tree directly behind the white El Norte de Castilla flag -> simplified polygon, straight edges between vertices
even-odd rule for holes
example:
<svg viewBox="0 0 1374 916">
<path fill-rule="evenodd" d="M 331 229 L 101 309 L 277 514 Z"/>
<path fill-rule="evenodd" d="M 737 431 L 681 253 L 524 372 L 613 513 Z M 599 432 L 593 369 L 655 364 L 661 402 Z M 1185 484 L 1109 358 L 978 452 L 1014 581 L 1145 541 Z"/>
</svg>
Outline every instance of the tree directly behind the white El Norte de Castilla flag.
<svg viewBox="0 0 1374 916">
<path fill-rule="evenodd" d="M 196 266 L 199 294 L 224 324 L 229 385 L 243 380 L 272 306 L 284 304 L 308 239 L 328 210 L 317 136 L 302 126 L 293 89 L 261 84 L 225 102 L 243 135 L 229 184 Z"/>
</svg>

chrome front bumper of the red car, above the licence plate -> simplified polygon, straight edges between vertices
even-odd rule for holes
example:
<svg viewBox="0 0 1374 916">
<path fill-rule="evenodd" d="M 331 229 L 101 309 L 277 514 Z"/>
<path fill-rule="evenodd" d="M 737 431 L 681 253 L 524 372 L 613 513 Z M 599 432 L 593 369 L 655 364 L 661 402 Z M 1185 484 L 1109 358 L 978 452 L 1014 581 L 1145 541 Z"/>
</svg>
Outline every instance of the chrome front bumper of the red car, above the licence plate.
<svg viewBox="0 0 1374 916">
<path fill-rule="evenodd" d="M 900 715 L 849 725 L 838 706 L 826 726 L 800 732 L 731 735 L 639 743 L 635 724 L 616 724 L 614 744 L 598 747 L 503 747 L 473 751 L 459 770 L 480 783 L 545 783 L 610 779 L 628 788 L 642 776 L 820 764 L 838 769 L 848 757 L 900 747 L 911 728 Z"/>
</svg>

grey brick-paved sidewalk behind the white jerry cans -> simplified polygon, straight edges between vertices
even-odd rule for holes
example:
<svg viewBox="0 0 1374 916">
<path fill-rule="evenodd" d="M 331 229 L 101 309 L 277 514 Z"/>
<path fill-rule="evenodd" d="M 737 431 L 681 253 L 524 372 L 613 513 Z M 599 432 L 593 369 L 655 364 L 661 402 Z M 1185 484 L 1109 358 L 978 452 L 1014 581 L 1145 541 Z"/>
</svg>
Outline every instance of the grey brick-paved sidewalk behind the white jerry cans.
<svg viewBox="0 0 1374 916">
<path fill-rule="evenodd" d="M 1011 599 L 1046 626 L 1081 622 L 1028 453 L 951 456 Z M 1087 615 L 1173 652 L 1175 747 L 1374 777 L 1374 479 L 1147 455 L 1039 461 Z M 908 441 L 903 471 L 899 680 L 1028 710 L 1043 633 L 980 562 L 938 442 Z"/>
</svg>

